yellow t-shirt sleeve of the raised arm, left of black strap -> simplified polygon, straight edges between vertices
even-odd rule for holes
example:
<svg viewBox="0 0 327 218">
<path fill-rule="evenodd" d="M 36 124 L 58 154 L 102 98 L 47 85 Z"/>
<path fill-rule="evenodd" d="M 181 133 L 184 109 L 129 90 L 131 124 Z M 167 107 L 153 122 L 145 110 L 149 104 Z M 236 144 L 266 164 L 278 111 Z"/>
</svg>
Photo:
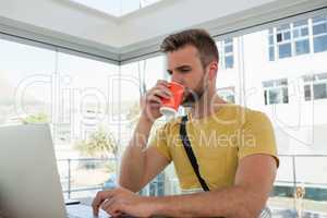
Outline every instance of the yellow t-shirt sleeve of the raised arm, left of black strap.
<svg viewBox="0 0 327 218">
<path fill-rule="evenodd" d="M 171 154 L 168 147 L 167 124 L 156 130 L 149 141 L 149 146 L 154 146 L 161 155 L 171 161 Z"/>
</svg>

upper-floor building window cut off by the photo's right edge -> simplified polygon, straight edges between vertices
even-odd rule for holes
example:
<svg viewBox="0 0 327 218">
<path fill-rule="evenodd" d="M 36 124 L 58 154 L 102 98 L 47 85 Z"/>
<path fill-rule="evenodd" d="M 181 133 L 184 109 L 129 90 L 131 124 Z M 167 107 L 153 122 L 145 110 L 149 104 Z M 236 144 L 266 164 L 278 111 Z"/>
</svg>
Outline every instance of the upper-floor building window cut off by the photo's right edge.
<svg viewBox="0 0 327 218">
<path fill-rule="evenodd" d="M 313 23 L 314 52 L 327 50 L 327 15 L 316 16 Z"/>
</svg>

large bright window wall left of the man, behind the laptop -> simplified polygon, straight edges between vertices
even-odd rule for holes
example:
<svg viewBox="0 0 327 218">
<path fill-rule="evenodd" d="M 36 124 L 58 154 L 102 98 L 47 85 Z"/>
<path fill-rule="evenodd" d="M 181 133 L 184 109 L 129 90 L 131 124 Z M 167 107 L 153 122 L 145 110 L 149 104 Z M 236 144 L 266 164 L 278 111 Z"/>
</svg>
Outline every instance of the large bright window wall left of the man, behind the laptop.
<svg viewBox="0 0 327 218">
<path fill-rule="evenodd" d="M 106 106 L 119 104 L 109 97 L 117 96 L 117 89 L 108 87 L 110 76 L 118 74 L 118 65 L 61 53 L 55 47 L 50 50 L 20 41 L 0 39 L 0 125 L 49 123 L 64 197 L 92 196 L 94 194 L 87 189 L 96 190 L 106 181 L 108 173 L 116 170 L 113 158 L 97 159 L 99 153 L 94 150 L 107 142 L 116 145 L 113 141 L 102 142 L 109 131 L 112 134 L 118 132 L 117 125 L 108 126 L 106 119 Z M 102 107 L 86 107 L 99 101 Z M 99 110 L 101 117 L 97 114 Z M 105 133 L 97 129 L 97 124 L 101 123 L 107 124 Z M 93 137 L 88 141 L 87 136 Z M 101 157 L 106 158 L 113 155 L 102 154 Z M 90 165 L 98 167 L 90 171 L 85 167 Z M 88 178 L 88 173 L 96 179 L 83 179 Z"/>
</svg>

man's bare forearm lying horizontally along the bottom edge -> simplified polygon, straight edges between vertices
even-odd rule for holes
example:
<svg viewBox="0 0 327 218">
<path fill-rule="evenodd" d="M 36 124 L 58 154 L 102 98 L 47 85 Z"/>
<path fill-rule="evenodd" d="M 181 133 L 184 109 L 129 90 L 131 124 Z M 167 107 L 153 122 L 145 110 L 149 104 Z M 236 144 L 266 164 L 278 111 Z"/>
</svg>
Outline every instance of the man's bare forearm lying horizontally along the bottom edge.
<svg viewBox="0 0 327 218">
<path fill-rule="evenodd" d="M 254 205 L 257 195 L 233 186 L 219 191 L 156 197 L 152 199 L 155 216 L 254 218 L 263 205 Z"/>
</svg>

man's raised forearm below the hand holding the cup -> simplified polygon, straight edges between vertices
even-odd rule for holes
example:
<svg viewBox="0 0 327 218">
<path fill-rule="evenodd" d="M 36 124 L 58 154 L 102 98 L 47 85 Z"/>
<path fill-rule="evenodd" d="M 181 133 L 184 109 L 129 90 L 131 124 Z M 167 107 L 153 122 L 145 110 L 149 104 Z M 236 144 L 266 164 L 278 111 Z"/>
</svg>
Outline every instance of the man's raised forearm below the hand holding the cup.
<svg viewBox="0 0 327 218">
<path fill-rule="evenodd" d="M 137 192 L 144 175 L 145 154 L 144 149 L 153 122 L 141 117 L 134 134 L 122 157 L 119 184 L 125 189 Z"/>
</svg>

